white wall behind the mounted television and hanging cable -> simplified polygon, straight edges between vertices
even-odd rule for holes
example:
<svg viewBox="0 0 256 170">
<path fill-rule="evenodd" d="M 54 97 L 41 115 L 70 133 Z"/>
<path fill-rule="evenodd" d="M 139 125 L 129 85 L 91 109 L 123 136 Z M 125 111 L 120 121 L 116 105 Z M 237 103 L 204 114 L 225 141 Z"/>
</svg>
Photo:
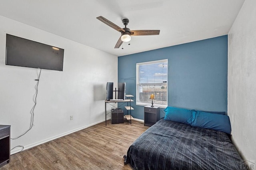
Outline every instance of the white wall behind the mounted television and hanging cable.
<svg viewBox="0 0 256 170">
<path fill-rule="evenodd" d="M 11 140 L 11 148 L 27 149 L 105 120 L 106 82 L 117 83 L 117 56 L 0 16 L 0 124 L 11 125 L 12 138 L 30 127 L 39 70 L 5 65 L 6 34 L 64 49 L 63 71 L 42 69 L 34 126 Z"/>
</svg>

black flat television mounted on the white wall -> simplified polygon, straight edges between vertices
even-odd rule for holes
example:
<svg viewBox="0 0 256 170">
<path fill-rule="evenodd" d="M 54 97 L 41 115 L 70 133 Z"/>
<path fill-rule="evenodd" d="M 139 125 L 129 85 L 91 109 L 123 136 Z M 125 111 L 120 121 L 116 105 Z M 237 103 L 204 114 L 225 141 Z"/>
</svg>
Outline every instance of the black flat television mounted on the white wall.
<svg viewBox="0 0 256 170">
<path fill-rule="evenodd" d="M 6 34 L 6 65 L 63 71 L 64 49 Z"/>
</svg>

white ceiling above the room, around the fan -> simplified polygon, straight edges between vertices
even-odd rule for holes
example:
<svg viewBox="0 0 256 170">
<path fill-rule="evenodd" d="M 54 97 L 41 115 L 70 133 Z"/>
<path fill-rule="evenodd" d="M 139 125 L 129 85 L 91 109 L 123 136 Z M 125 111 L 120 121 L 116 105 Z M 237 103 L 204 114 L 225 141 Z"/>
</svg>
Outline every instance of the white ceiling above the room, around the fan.
<svg viewBox="0 0 256 170">
<path fill-rule="evenodd" d="M 0 15 L 117 56 L 228 34 L 244 0 L 1 0 Z M 132 36 L 114 49 L 120 33 L 98 16 L 131 30 L 160 30 Z"/>
</svg>

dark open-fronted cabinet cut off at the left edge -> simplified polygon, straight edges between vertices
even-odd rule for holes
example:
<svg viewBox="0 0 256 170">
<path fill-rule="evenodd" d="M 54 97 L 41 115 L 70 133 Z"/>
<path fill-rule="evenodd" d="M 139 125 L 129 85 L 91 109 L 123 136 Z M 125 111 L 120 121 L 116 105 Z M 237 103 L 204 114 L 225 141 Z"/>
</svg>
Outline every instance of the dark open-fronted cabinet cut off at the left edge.
<svg viewBox="0 0 256 170">
<path fill-rule="evenodd" d="M 0 125 L 0 167 L 10 162 L 10 125 Z"/>
</svg>

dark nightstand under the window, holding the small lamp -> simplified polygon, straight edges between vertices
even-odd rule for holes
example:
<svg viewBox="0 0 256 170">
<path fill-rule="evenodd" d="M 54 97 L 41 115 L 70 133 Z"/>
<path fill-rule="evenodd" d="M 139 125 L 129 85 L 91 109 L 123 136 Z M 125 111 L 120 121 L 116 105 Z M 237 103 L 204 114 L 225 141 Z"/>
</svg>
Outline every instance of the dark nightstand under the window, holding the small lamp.
<svg viewBox="0 0 256 170">
<path fill-rule="evenodd" d="M 144 126 L 151 127 L 160 119 L 160 108 L 159 107 L 144 107 Z"/>
</svg>

